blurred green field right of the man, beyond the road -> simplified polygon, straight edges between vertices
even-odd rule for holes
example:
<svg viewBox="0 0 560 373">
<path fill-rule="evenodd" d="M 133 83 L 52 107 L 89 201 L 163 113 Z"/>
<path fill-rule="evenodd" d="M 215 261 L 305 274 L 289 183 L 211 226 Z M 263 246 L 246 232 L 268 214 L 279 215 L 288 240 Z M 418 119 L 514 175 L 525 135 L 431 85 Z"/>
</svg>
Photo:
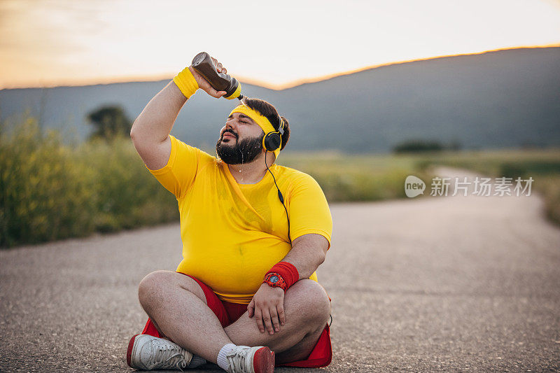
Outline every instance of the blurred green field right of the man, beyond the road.
<svg viewBox="0 0 560 373">
<path fill-rule="evenodd" d="M 409 174 L 430 180 L 437 165 L 470 169 L 484 176 L 533 178 L 533 192 L 545 200 L 547 218 L 560 224 L 560 149 L 477 150 L 414 155 L 290 154 L 279 163 L 316 177 L 332 201 L 404 197 Z M 339 185 L 347 181 L 342 192 Z M 332 181 L 335 181 L 333 183 Z M 335 187 L 335 188 L 330 188 Z"/>
</svg>

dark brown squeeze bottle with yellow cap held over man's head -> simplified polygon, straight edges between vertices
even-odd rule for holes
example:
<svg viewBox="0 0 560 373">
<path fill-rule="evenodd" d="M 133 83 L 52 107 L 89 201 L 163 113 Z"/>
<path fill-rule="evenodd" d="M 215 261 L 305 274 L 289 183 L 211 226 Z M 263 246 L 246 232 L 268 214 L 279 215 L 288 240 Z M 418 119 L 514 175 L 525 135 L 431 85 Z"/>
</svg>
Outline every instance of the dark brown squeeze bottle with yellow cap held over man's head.
<svg viewBox="0 0 560 373">
<path fill-rule="evenodd" d="M 200 52 L 193 58 L 193 69 L 200 73 L 217 91 L 225 91 L 226 99 L 242 99 L 241 83 L 226 73 L 218 73 L 214 61 L 207 52 Z"/>
</svg>

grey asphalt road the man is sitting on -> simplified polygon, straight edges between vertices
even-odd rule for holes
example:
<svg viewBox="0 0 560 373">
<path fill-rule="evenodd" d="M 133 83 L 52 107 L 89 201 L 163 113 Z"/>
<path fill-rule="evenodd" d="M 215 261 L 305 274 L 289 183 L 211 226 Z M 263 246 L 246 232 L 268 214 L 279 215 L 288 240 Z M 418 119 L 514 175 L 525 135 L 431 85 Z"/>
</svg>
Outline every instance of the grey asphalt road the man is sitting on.
<svg viewBox="0 0 560 373">
<path fill-rule="evenodd" d="M 324 371 L 560 372 L 560 229 L 534 193 L 331 209 Z M 137 285 L 180 259 L 177 224 L 0 251 L 0 371 L 131 372 Z"/>
</svg>

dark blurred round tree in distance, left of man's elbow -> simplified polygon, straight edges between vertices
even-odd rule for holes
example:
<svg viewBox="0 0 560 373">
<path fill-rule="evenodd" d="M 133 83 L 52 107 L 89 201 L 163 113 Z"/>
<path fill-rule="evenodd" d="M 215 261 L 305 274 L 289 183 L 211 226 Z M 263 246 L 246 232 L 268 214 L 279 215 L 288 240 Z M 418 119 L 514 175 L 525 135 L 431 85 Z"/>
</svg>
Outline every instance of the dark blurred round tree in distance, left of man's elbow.
<svg viewBox="0 0 560 373">
<path fill-rule="evenodd" d="M 116 136 L 128 136 L 132 128 L 132 120 L 121 106 L 102 106 L 89 113 L 87 120 L 94 127 L 90 139 L 109 140 Z"/>
</svg>

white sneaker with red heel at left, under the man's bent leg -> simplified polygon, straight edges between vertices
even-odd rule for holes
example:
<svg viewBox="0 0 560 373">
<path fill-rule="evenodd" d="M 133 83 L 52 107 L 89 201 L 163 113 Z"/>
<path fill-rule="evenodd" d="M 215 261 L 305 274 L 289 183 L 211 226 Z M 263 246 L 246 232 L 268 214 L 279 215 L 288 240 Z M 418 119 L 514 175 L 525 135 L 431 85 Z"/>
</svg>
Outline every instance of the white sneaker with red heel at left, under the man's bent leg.
<svg viewBox="0 0 560 373">
<path fill-rule="evenodd" d="M 135 335 L 127 349 L 127 364 L 139 370 L 183 370 L 193 354 L 168 339 Z"/>
</svg>

